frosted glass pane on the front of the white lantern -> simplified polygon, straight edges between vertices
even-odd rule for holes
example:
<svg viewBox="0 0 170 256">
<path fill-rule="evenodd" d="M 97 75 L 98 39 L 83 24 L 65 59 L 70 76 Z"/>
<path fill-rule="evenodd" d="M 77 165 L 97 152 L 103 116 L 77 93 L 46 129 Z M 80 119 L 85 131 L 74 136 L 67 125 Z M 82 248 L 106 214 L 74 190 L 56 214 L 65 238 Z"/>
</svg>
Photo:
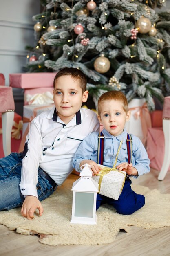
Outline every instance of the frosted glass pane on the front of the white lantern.
<svg viewBox="0 0 170 256">
<path fill-rule="evenodd" d="M 75 192 L 75 217 L 93 218 L 94 193 Z"/>
</svg>

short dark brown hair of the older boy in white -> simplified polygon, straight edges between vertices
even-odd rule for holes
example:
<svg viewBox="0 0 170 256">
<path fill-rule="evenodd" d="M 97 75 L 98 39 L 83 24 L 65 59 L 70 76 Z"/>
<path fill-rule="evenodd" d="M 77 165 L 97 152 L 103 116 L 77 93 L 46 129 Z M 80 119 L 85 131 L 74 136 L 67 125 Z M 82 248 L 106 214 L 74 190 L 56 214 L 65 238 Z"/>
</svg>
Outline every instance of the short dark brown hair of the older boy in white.
<svg viewBox="0 0 170 256">
<path fill-rule="evenodd" d="M 73 68 L 73 67 L 63 68 L 56 74 L 56 76 L 54 78 L 54 82 L 53 82 L 54 88 L 55 88 L 55 82 L 60 76 L 71 76 L 74 80 L 79 80 L 80 87 L 82 88 L 82 91 L 83 92 L 86 91 L 87 79 L 86 79 L 85 74 L 81 70 L 79 70 L 77 68 Z"/>
</svg>

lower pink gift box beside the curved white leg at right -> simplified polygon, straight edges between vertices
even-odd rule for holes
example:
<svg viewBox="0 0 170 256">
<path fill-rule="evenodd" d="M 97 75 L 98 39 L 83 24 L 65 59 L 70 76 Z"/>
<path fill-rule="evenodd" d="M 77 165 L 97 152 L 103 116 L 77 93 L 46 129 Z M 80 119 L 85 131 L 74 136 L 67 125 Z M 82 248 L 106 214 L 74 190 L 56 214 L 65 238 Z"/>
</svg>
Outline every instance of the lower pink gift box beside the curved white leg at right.
<svg viewBox="0 0 170 256">
<path fill-rule="evenodd" d="M 150 159 L 150 167 L 161 171 L 165 152 L 165 141 L 162 128 L 155 127 L 148 129 L 146 150 Z M 168 171 L 170 171 L 170 166 Z"/>
</svg>

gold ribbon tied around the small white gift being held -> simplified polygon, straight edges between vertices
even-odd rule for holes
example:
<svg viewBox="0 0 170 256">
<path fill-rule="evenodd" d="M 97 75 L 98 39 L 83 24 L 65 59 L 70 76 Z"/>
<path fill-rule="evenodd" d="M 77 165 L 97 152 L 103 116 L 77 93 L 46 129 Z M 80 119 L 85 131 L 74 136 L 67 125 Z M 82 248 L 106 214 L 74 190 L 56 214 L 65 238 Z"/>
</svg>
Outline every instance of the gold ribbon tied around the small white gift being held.
<svg viewBox="0 0 170 256">
<path fill-rule="evenodd" d="M 102 170 L 100 170 L 100 173 L 96 174 L 96 176 L 100 176 L 100 178 L 99 178 L 99 192 L 100 192 L 100 188 L 101 188 L 103 176 L 104 176 L 105 174 L 110 173 L 110 171 L 117 171 L 117 172 L 123 173 L 124 176 L 126 177 L 126 174 L 125 174 L 124 172 L 119 171 L 119 170 L 117 170 L 117 168 L 116 168 L 117 158 L 118 158 L 118 155 L 119 155 L 119 151 L 120 151 L 120 148 L 121 148 L 121 144 L 122 144 L 122 140 L 120 141 L 120 145 L 119 145 L 119 148 L 118 148 L 118 150 L 117 150 L 117 154 L 116 154 L 116 158 L 115 158 L 115 162 L 114 162 L 114 164 L 113 164 L 113 167 L 112 167 L 112 168 L 110 168 L 110 167 L 104 167 L 104 168 L 102 168 Z M 125 179 L 124 179 L 124 182 L 125 182 Z M 121 191 L 122 191 L 123 187 L 124 187 L 124 183 L 123 183 L 123 185 L 122 185 L 122 187 L 121 187 Z"/>
</svg>

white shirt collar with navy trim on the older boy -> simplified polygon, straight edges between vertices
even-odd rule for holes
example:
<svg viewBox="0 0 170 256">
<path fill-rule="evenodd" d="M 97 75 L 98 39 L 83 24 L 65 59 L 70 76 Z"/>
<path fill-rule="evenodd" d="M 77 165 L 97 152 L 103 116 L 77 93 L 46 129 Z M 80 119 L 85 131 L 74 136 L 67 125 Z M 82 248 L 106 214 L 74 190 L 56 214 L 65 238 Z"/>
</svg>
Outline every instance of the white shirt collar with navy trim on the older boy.
<svg viewBox="0 0 170 256">
<path fill-rule="evenodd" d="M 49 112 L 49 115 L 47 116 L 47 118 L 53 119 L 53 121 L 55 121 L 55 122 L 59 121 L 60 123 L 63 123 L 62 120 L 60 119 L 60 117 L 58 117 L 55 107 L 52 108 L 52 110 Z M 68 124 L 70 124 L 70 123 L 71 123 L 71 125 L 74 125 L 74 124 L 77 125 L 77 124 L 82 123 L 82 117 L 81 117 L 80 110 L 77 113 L 75 113 L 75 117 L 73 117 Z"/>
</svg>

